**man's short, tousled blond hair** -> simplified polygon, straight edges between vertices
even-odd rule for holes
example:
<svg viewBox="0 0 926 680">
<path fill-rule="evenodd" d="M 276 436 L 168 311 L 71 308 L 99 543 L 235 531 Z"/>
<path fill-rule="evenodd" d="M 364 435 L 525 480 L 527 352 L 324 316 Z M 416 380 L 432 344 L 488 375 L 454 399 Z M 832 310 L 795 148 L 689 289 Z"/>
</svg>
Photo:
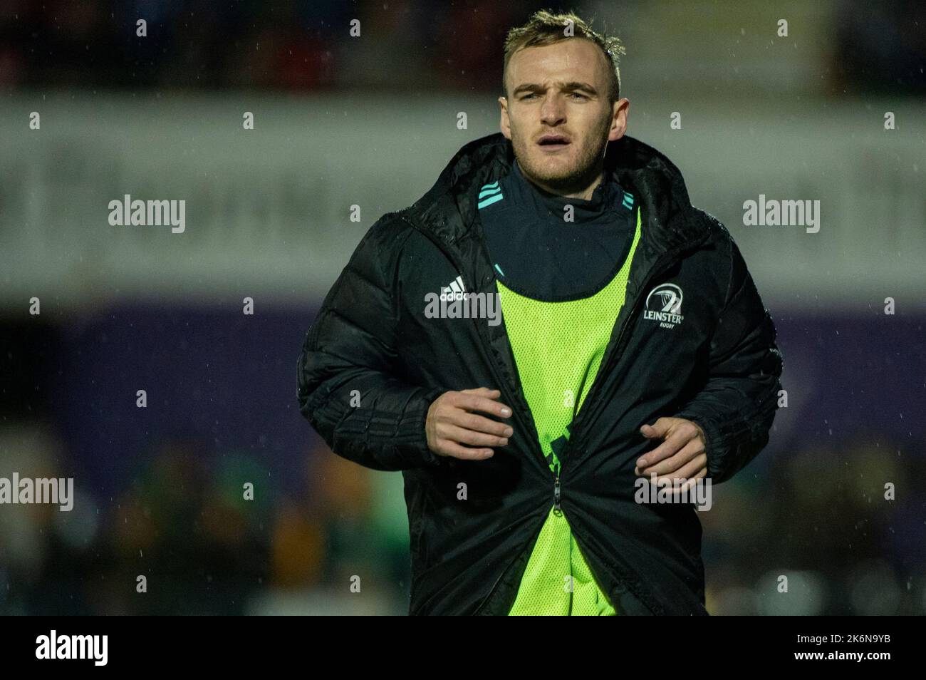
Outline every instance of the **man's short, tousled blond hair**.
<svg viewBox="0 0 926 680">
<path fill-rule="evenodd" d="M 564 31 L 569 22 L 573 26 L 573 35 L 571 36 L 566 35 Z M 619 59 L 627 53 L 624 46 L 620 44 L 620 39 L 617 36 L 608 36 L 593 31 L 592 26 L 580 19 L 574 12 L 553 14 L 545 9 L 534 12 L 526 24 L 511 29 L 505 37 L 505 67 L 502 69 L 503 95 L 507 96 L 505 79 L 508 72 L 508 62 L 516 52 L 526 47 L 555 44 L 572 38 L 585 38 L 592 41 L 610 61 L 611 68 L 607 69 L 610 76 L 607 98 L 609 104 L 618 101 L 620 98 Z"/>
</svg>

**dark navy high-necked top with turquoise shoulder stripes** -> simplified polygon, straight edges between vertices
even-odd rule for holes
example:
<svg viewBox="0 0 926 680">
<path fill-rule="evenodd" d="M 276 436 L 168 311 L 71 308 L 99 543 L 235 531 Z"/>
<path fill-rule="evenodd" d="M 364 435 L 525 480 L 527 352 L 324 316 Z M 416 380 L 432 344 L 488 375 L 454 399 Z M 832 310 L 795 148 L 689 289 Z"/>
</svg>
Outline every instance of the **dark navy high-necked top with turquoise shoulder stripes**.
<svg viewBox="0 0 926 680">
<path fill-rule="evenodd" d="M 516 160 L 480 191 L 477 214 L 495 276 L 540 300 L 594 295 L 630 252 L 633 200 L 607 172 L 590 200 L 550 194 L 526 179 Z M 565 220 L 567 205 L 574 221 Z"/>
</svg>

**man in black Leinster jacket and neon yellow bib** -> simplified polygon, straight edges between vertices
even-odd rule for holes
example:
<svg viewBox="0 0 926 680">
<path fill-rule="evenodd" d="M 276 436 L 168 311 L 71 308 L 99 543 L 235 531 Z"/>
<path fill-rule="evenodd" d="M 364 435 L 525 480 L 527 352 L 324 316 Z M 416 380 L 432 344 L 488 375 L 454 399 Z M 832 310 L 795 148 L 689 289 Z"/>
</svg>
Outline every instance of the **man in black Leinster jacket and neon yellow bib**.
<svg viewBox="0 0 926 680">
<path fill-rule="evenodd" d="M 405 477 L 412 614 L 707 613 L 697 511 L 635 492 L 752 460 L 782 358 L 730 233 L 624 134 L 621 52 L 510 31 L 501 133 L 370 228 L 307 334 L 302 412 Z"/>
</svg>

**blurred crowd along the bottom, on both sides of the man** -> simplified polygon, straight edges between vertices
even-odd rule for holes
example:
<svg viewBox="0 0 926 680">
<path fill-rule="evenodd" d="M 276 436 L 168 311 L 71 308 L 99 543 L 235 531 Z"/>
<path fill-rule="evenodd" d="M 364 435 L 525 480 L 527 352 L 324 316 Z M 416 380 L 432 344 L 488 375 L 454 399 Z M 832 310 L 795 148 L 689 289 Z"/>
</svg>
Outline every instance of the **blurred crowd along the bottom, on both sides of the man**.
<svg viewBox="0 0 926 680">
<path fill-rule="evenodd" d="M 69 476 L 67 448 L 47 423 L 7 422 L 0 472 Z M 205 450 L 156 440 L 118 497 L 77 475 L 74 510 L 0 509 L 0 614 L 407 613 L 399 473 L 316 444 L 293 494 L 253 456 Z M 926 461 L 873 433 L 764 452 L 699 513 L 708 611 L 926 613 L 924 480 Z"/>
</svg>

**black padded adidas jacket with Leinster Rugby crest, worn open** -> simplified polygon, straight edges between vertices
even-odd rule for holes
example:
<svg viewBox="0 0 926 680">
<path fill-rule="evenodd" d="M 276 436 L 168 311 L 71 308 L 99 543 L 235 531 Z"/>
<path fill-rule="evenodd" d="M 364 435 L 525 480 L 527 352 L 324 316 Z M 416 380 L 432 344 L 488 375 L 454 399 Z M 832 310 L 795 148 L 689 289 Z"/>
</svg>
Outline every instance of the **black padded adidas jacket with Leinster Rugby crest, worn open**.
<svg viewBox="0 0 926 680">
<path fill-rule="evenodd" d="M 377 220 L 298 358 L 299 407 L 332 450 L 403 472 L 412 614 L 507 613 L 554 501 L 504 322 L 424 313 L 425 296 L 457 276 L 466 291 L 494 293 L 476 203 L 512 161 L 501 133 L 475 140 L 413 206 Z M 698 423 L 709 476 L 729 479 L 768 443 L 782 356 L 739 248 L 692 207 L 669 159 L 625 135 L 608 144 L 606 171 L 639 202 L 642 235 L 626 302 L 560 456 L 560 505 L 612 602 L 705 614 L 697 510 L 634 502 L 635 461 L 659 443 L 640 426 L 661 416 Z M 662 309 L 649 294 L 663 283 L 682 298 L 673 310 L 681 319 L 669 323 L 644 313 Z M 424 432 L 432 400 L 479 386 L 500 389 L 514 409 L 508 446 L 488 460 L 434 455 Z"/>
</svg>

